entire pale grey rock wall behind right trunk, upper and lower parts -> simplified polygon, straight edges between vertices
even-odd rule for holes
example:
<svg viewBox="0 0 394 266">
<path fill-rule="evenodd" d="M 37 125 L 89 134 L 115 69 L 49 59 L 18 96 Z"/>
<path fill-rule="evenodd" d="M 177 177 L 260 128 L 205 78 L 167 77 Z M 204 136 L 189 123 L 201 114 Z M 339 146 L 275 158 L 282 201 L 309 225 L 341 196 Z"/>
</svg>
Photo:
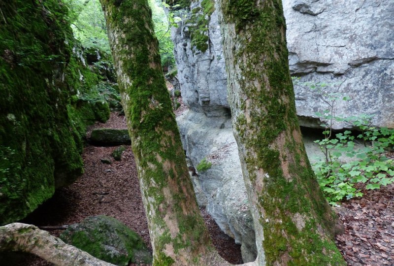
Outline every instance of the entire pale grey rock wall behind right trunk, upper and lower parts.
<svg viewBox="0 0 394 266">
<path fill-rule="evenodd" d="M 192 2 L 172 31 L 182 97 L 190 106 L 177 122 L 191 164 L 196 167 L 203 158 L 212 163 L 210 169 L 192 176 L 199 203 L 207 206 L 225 233 L 242 243 L 244 262 L 249 262 L 256 257 L 256 248 L 229 122 L 222 38 L 217 12 L 204 12 L 204 4 L 206 0 Z M 336 101 L 337 115 L 374 114 L 373 125 L 393 128 L 394 6 L 390 0 L 284 0 L 283 5 L 291 73 L 300 82 L 331 84 L 326 92 L 335 92 L 340 99 L 348 96 L 348 101 Z M 200 43 L 204 38 L 198 45 L 193 41 L 196 31 L 206 36 L 206 46 Z M 315 112 L 328 109 L 327 104 L 299 86 L 295 93 L 300 124 L 319 127 L 322 121 Z M 349 125 L 334 125 L 343 127 Z"/>
</svg>

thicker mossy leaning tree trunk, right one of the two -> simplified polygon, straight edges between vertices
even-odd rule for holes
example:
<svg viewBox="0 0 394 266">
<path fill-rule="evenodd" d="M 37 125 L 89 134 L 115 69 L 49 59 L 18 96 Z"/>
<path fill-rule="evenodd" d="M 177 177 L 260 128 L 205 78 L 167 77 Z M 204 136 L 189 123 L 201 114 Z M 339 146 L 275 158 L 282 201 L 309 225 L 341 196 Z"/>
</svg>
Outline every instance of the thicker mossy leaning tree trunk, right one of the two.
<svg viewBox="0 0 394 266">
<path fill-rule="evenodd" d="M 345 265 L 299 130 L 281 0 L 219 0 L 258 265 Z"/>
</svg>

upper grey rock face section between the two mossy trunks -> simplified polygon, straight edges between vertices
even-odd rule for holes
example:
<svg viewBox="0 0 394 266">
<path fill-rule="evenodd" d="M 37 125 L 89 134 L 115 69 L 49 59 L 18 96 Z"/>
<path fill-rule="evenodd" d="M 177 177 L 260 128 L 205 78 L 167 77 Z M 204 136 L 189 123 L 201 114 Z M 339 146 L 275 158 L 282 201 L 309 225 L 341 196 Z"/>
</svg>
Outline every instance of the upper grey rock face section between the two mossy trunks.
<svg viewBox="0 0 394 266">
<path fill-rule="evenodd" d="M 191 9 L 198 4 L 193 2 Z M 195 26 L 188 23 L 190 16 L 188 14 L 171 34 L 183 100 L 192 110 L 204 112 L 209 117 L 227 114 L 230 106 L 227 103 L 227 76 L 218 14 L 215 11 L 211 15 L 205 52 L 192 47 L 190 28 Z"/>
</svg>

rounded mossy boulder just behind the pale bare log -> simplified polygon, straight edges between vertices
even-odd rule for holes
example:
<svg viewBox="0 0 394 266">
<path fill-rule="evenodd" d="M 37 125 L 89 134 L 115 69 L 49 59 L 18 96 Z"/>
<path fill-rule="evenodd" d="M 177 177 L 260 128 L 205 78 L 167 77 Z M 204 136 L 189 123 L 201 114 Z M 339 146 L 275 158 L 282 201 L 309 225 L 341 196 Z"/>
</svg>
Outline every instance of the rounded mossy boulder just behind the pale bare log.
<svg viewBox="0 0 394 266">
<path fill-rule="evenodd" d="M 69 226 L 60 238 L 115 265 L 127 266 L 129 262 L 152 263 L 152 254 L 142 238 L 112 217 L 88 217 L 80 224 Z"/>
</svg>

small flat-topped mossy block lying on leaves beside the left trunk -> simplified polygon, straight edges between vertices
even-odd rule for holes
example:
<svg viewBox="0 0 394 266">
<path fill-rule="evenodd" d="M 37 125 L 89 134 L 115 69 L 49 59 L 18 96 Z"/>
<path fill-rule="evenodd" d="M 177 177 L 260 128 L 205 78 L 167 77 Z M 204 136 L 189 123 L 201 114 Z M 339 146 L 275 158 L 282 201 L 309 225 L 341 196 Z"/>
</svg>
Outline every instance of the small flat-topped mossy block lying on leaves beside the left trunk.
<svg viewBox="0 0 394 266">
<path fill-rule="evenodd" d="M 90 136 L 90 142 L 97 146 L 119 146 L 130 145 L 131 139 L 128 130 L 95 129 Z"/>
</svg>

